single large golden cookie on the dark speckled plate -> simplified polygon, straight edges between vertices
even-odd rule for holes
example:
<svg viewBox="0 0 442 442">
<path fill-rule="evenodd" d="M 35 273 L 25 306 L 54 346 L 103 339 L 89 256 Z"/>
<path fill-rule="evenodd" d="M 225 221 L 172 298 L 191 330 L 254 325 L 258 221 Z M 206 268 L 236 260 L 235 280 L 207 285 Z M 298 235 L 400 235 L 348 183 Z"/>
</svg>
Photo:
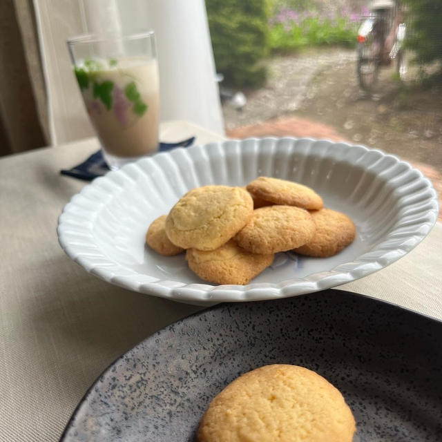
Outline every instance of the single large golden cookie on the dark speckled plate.
<svg viewBox="0 0 442 442">
<path fill-rule="evenodd" d="M 198 442 L 352 442 L 356 423 L 340 392 L 296 365 L 266 365 L 215 396 Z"/>
</svg>

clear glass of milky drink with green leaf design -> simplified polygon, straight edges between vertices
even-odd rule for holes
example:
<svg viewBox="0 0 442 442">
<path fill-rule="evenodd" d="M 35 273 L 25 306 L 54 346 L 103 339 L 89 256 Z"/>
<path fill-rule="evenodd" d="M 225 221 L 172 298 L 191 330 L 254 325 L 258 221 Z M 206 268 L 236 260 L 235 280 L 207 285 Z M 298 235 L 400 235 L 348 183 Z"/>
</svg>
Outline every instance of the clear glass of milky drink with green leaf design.
<svg viewBox="0 0 442 442">
<path fill-rule="evenodd" d="M 111 169 L 158 149 L 160 80 L 155 36 L 68 40 L 75 76 L 86 110 Z"/>
</svg>

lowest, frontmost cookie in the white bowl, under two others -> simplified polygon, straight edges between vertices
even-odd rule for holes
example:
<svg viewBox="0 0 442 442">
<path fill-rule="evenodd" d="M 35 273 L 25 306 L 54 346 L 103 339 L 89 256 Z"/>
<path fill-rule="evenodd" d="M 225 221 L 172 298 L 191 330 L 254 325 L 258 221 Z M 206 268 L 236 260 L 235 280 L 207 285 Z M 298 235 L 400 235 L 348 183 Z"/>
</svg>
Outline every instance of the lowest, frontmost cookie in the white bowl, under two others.
<svg viewBox="0 0 442 442">
<path fill-rule="evenodd" d="M 188 249 L 186 260 L 201 279 L 217 284 L 246 285 L 271 265 L 273 254 L 250 253 L 230 240 L 212 251 Z"/>
</svg>

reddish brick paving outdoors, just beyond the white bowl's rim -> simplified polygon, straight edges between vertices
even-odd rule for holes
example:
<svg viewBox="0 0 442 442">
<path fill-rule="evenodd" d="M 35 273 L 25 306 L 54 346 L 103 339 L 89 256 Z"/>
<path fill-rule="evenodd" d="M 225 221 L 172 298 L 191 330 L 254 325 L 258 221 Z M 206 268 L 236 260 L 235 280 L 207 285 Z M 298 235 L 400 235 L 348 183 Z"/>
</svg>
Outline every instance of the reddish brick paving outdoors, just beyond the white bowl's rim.
<svg viewBox="0 0 442 442">
<path fill-rule="evenodd" d="M 227 136 L 230 138 L 247 138 L 247 137 L 311 137 L 311 138 L 326 138 L 332 141 L 344 141 L 345 137 L 340 135 L 334 128 L 327 124 L 312 122 L 310 119 L 301 117 L 281 117 L 271 119 L 260 124 L 252 124 L 251 126 L 242 126 L 227 130 Z M 350 142 L 352 143 L 352 142 Z M 413 162 L 407 160 L 416 169 L 419 169 L 433 184 L 434 189 L 439 195 L 439 218 L 442 222 L 442 173 L 430 166 L 421 162 Z"/>
</svg>

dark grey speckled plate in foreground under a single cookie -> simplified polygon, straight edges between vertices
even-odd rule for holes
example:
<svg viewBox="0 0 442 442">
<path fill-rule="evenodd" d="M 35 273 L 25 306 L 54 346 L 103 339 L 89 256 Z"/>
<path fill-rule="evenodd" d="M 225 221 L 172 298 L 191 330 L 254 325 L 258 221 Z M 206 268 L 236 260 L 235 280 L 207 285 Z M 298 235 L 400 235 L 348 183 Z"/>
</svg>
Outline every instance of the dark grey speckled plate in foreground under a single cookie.
<svg viewBox="0 0 442 442">
<path fill-rule="evenodd" d="M 354 412 L 354 441 L 442 441 L 442 323 L 327 290 L 222 304 L 162 329 L 91 387 L 61 440 L 193 441 L 209 401 L 272 363 L 325 376 Z"/>
</svg>

